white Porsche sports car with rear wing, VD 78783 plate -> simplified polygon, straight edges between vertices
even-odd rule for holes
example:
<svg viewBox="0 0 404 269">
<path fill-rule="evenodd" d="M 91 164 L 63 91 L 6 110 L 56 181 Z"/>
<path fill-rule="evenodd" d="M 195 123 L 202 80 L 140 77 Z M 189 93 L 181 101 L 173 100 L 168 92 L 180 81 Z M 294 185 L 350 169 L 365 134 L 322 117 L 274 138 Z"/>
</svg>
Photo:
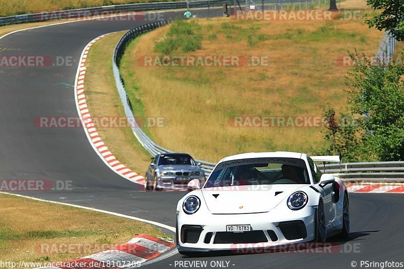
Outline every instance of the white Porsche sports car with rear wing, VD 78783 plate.
<svg viewBox="0 0 404 269">
<path fill-rule="evenodd" d="M 314 162 L 340 162 L 340 156 L 261 152 L 223 158 L 202 188 L 191 181 L 193 191 L 178 202 L 178 251 L 192 255 L 347 237 L 345 185 Z"/>
</svg>

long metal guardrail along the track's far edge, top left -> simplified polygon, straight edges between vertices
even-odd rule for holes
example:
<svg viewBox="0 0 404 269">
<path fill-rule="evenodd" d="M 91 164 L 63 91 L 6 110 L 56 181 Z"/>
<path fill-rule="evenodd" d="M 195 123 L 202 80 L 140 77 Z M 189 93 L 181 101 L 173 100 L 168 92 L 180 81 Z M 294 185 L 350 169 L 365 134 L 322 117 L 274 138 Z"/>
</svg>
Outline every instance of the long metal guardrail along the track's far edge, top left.
<svg viewBox="0 0 404 269">
<path fill-rule="evenodd" d="M 228 3 L 227 0 L 196 0 L 189 1 L 189 8 L 206 8 L 206 7 L 221 7 Z M 103 16 L 120 14 L 127 12 L 153 11 L 153 10 L 171 10 L 171 9 L 186 9 L 186 1 L 178 2 L 156 2 L 156 3 L 139 3 L 127 5 L 115 5 L 105 7 L 95 7 L 86 9 L 62 10 L 53 12 L 42 12 L 34 14 L 25 14 L 9 17 L 0 17 L 0 26 L 8 24 L 20 24 L 28 22 L 41 22 L 55 19 L 75 19 L 89 18 L 90 16 Z M 111 14 L 112 13 L 112 14 Z"/>
</svg>

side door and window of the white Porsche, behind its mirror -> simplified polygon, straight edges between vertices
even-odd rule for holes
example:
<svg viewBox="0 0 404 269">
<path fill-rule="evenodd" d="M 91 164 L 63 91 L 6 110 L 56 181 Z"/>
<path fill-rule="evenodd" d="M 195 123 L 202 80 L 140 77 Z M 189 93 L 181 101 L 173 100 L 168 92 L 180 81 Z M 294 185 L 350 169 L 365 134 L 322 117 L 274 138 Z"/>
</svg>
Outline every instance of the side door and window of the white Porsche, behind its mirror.
<svg viewBox="0 0 404 269">
<path fill-rule="evenodd" d="M 335 208 L 334 208 L 334 202 L 332 200 L 332 184 L 328 184 L 325 186 L 320 185 L 320 179 L 321 179 L 321 171 L 317 167 L 317 165 L 313 162 L 313 160 L 309 157 L 309 165 L 310 165 L 310 170 L 312 172 L 313 180 L 314 183 L 318 185 L 320 189 L 323 190 L 323 203 L 324 203 L 324 214 L 325 214 L 325 221 L 327 225 L 327 229 L 329 229 L 332 225 L 332 222 L 334 221 L 335 218 Z"/>
</svg>

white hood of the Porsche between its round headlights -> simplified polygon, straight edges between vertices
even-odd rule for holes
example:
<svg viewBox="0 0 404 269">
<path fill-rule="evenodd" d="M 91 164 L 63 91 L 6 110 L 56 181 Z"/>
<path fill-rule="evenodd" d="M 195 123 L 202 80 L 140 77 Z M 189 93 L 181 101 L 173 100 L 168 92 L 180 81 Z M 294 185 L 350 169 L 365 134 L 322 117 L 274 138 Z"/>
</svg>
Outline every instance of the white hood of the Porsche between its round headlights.
<svg viewBox="0 0 404 269">
<path fill-rule="evenodd" d="M 203 188 L 208 209 L 215 214 L 267 212 L 276 207 L 302 184 L 233 186 Z M 275 195 L 276 194 L 276 195 Z M 216 196 L 216 198 L 215 198 Z"/>
</svg>

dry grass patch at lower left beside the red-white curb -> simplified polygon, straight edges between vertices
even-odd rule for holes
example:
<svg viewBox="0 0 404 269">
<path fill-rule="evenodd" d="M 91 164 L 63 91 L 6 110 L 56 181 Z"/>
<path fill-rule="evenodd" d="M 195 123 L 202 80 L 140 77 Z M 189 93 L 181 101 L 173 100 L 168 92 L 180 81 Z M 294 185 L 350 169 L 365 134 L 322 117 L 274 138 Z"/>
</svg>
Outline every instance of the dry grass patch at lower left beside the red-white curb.
<svg viewBox="0 0 404 269">
<path fill-rule="evenodd" d="M 0 260 L 57 262 L 90 253 L 41 253 L 41 244 L 123 244 L 136 233 L 157 237 L 151 225 L 108 214 L 0 194 Z"/>
</svg>

